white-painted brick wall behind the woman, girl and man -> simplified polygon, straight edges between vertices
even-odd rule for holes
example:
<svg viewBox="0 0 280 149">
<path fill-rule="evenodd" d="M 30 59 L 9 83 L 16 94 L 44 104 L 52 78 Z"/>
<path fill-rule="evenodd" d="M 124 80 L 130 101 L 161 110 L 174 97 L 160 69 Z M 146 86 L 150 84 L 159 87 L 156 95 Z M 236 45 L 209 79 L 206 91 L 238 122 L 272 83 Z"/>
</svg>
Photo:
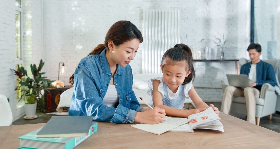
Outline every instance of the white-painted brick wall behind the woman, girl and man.
<svg viewBox="0 0 280 149">
<path fill-rule="evenodd" d="M 214 47 L 213 42 L 200 42 L 203 38 L 228 38 L 230 47 L 225 51 L 226 59 L 246 57 L 249 43 L 250 2 L 246 0 L 23 0 L 23 61 L 15 59 L 15 3 L 0 0 L 0 93 L 10 98 L 14 119 L 20 116 L 16 112 L 15 75 L 10 68 L 23 63 L 26 68 L 42 58 L 45 60 L 46 76 L 57 80 L 58 64 L 64 62 L 66 72 L 60 79 L 68 84 L 80 59 L 99 43 L 109 27 L 118 20 L 130 20 L 142 30 L 142 10 L 144 9 L 179 9 L 181 12 L 181 42 L 195 50 Z M 274 1 L 265 2 L 265 10 Z M 256 1 L 256 10 L 260 2 Z M 267 12 L 267 11 L 265 11 Z M 261 12 L 256 14 L 261 15 Z M 270 28 L 272 17 L 264 15 L 262 22 Z M 275 22 L 274 22 L 275 23 Z M 267 32 L 268 30 L 263 30 Z M 266 35 L 262 33 L 260 35 Z M 274 36 L 274 34 L 273 34 Z M 145 40 L 145 37 L 144 37 Z M 265 43 L 262 44 L 265 48 Z M 141 45 L 139 53 L 130 65 L 134 73 L 141 73 Z M 278 52 L 279 53 L 279 52 Z M 235 73 L 234 62 L 195 62 L 196 79 L 194 86 L 214 87 L 196 88 L 200 97 L 207 101 L 221 100 L 220 80 L 227 82 L 225 74 Z"/>
</svg>

